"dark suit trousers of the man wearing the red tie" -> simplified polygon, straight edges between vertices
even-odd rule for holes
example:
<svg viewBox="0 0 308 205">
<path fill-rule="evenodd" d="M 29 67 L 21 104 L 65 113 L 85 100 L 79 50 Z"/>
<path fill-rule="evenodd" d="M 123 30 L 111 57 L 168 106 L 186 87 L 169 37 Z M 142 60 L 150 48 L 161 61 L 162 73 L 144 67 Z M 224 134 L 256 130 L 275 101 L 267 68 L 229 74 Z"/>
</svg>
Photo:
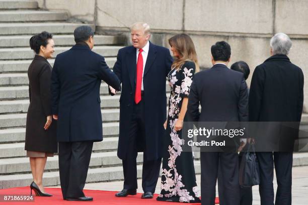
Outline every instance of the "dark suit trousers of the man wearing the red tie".
<svg viewBox="0 0 308 205">
<path fill-rule="evenodd" d="M 129 141 L 127 144 L 126 157 L 122 160 L 124 172 L 124 189 L 137 188 L 137 144 L 145 147 L 145 124 L 144 124 L 144 100 L 133 106 L 133 116 L 128 133 Z M 138 137 L 138 136 L 141 136 Z M 142 167 L 142 189 L 144 192 L 155 192 L 156 184 L 160 174 L 162 159 L 147 160 L 146 150 L 143 152 Z"/>
</svg>

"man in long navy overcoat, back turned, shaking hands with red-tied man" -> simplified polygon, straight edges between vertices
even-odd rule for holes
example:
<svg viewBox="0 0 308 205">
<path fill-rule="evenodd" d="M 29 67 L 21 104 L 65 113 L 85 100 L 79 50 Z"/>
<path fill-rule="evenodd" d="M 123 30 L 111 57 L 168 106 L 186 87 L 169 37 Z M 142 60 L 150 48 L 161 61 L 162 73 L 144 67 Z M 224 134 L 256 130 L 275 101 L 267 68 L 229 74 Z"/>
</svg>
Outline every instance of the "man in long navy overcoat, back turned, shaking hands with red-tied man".
<svg viewBox="0 0 308 205">
<path fill-rule="evenodd" d="M 93 36 L 89 26 L 76 28 L 76 45 L 57 55 L 52 70 L 52 114 L 58 120 L 60 182 L 66 200 L 93 200 L 83 188 L 93 142 L 103 140 L 101 81 L 121 89 L 104 57 L 91 51 Z"/>
</svg>

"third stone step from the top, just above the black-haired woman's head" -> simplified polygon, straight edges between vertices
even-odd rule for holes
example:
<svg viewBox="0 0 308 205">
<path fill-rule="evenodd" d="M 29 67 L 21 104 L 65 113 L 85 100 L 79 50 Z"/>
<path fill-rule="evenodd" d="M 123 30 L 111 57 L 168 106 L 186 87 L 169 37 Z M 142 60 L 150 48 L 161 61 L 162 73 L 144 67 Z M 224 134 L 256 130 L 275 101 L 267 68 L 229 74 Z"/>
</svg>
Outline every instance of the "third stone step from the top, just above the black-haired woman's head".
<svg viewBox="0 0 308 205">
<path fill-rule="evenodd" d="M 52 34 L 71 34 L 79 26 L 91 26 L 93 24 L 62 23 L 62 22 L 44 22 L 44 23 L 0 23 L 0 35 L 24 35 L 38 34 L 42 31 L 48 31 Z"/>
</svg>

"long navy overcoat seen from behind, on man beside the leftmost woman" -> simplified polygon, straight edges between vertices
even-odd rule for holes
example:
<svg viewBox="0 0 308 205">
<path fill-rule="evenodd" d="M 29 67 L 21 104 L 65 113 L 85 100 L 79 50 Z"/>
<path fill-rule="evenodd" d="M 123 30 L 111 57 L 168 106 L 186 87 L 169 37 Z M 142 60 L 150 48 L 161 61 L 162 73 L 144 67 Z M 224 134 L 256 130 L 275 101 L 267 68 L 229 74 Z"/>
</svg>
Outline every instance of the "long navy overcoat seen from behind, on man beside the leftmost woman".
<svg viewBox="0 0 308 205">
<path fill-rule="evenodd" d="M 87 45 L 57 55 L 51 79 L 52 114 L 58 115 L 59 142 L 102 141 L 101 80 L 121 90 L 103 56 Z"/>
</svg>

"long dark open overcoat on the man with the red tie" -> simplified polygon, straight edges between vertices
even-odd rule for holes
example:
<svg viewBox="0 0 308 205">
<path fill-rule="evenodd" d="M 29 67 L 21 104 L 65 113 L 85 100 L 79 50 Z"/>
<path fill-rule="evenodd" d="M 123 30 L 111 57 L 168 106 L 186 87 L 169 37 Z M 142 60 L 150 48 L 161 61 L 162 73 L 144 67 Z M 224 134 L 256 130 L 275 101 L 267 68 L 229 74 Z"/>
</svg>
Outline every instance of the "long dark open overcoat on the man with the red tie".
<svg viewBox="0 0 308 205">
<path fill-rule="evenodd" d="M 118 157 L 125 159 L 128 133 L 133 111 L 136 87 L 136 48 L 128 46 L 118 52 L 113 71 L 122 82 L 120 97 L 120 135 Z M 149 43 L 149 51 L 143 73 L 145 101 L 145 139 L 147 160 L 162 157 L 163 124 L 167 117 L 166 76 L 170 72 L 172 57 L 167 48 Z M 138 151 L 144 148 L 138 147 Z"/>
</svg>

